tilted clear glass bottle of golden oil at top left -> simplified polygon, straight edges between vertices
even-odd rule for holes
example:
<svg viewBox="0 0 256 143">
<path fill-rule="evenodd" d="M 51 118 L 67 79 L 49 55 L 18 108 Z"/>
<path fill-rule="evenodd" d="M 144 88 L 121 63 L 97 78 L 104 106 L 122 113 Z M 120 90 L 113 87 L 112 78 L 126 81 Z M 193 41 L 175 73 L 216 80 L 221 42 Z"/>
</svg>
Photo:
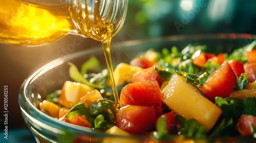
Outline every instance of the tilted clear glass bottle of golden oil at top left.
<svg viewBox="0 0 256 143">
<path fill-rule="evenodd" d="M 37 46 L 67 34 L 108 40 L 120 31 L 127 5 L 128 0 L 1 0 L 0 42 Z"/>
</svg>

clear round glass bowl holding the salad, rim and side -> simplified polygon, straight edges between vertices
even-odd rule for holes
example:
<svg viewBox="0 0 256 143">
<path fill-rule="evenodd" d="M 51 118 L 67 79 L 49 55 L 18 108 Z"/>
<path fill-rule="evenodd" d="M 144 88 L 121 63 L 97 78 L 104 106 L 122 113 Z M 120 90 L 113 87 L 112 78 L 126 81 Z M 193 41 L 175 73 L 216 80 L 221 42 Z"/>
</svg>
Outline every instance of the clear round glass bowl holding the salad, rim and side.
<svg viewBox="0 0 256 143">
<path fill-rule="evenodd" d="M 249 34 L 215 34 L 215 35 L 182 35 L 169 36 L 155 39 L 142 39 L 125 41 L 113 44 L 112 60 L 115 67 L 120 62 L 130 62 L 138 53 L 154 48 L 161 50 L 163 47 L 177 46 L 184 48 L 189 43 L 206 44 L 212 51 L 230 53 L 234 48 L 245 46 L 256 39 L 255 35 Z M 180 50 L 181 50 L 180 49 Z M 61 122 L 39 110 L 39 103 L 46 99 L 49 93 L 61 89 L 63 83 L 71 80 L 69 76 L 69 65 L 74 63 L 77 67 L 87 61 L 91 56 L 96 56 L 101 61 L 102 68 L 106 68 L 102 47 L 84 50 L 58 58 L 38 69 L 28 77 L 18 94 L 18 102 L 26 125 L 32 131 L 37 142 L 102 142 L 103 138 L 124 139 L 128 142 L 136 139 L 139 142 L 150 142 L 144 136 L 116 136 L 104 134 L 91 128 L 80 127 Z M 184 141 L 180 139 L 169 141 Z M 195 140 L 190 140 L 195 141 Z M 202 142 L 253 142 L 253 136 L 209 138 L 200 140 Z M 116 142 L 122 142 L 116 140 Z"/>
</svg>

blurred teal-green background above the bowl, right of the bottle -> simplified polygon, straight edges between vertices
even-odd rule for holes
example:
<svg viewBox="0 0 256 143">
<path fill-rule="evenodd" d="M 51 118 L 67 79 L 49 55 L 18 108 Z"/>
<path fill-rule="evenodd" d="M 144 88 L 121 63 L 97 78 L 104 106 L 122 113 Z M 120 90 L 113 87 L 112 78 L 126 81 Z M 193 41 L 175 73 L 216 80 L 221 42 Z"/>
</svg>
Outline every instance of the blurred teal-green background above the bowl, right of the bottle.
<svg viewBox="0 0 256 143">
<path fill-rule="evenodd" d="M 130 0 L 121 37 L 256 33 L 256 1 Z M 127 35 L 129 34 L 129 35 Z"/>
</svg>

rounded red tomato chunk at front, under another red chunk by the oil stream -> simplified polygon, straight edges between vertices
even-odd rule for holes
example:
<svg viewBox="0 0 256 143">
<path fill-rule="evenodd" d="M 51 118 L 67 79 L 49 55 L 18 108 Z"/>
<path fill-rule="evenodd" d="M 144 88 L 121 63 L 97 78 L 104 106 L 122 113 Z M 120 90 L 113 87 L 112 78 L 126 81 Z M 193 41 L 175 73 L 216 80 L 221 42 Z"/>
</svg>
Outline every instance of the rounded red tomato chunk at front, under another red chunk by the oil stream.
<svg viewBox="0 0 256 143">
<path fill-rule="evenodd" d="M 144 134 L 154 129 L 155 109 L 149 106 L 128 105 L 116 113 L 116 126 L 131 134 Z"/>
</svg>

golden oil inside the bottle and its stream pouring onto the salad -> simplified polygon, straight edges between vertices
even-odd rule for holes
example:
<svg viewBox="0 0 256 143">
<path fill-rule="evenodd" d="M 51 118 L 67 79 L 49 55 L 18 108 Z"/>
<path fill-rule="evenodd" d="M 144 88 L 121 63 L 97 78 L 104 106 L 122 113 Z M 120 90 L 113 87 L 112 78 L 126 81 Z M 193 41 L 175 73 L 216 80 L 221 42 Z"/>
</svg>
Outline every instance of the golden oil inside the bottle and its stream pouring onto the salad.
<svg viewBox="0 0 256 143">
<path fill-rule="evenodd" d="M 112 33 L 117 27 L 108 19 L 102 20 L 99 8 L 100 3 L 97 1 L 92 16 L 89 7 L 78 13 L 70 5 L 40 7 L 15 0 L 1 0 L 0 42 L 17 46 L 37 46 L 52 43 L 68 34 L 101 41 L 115 101 L 119 103 L 110 52 Z"/>
</svg>

